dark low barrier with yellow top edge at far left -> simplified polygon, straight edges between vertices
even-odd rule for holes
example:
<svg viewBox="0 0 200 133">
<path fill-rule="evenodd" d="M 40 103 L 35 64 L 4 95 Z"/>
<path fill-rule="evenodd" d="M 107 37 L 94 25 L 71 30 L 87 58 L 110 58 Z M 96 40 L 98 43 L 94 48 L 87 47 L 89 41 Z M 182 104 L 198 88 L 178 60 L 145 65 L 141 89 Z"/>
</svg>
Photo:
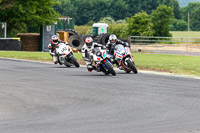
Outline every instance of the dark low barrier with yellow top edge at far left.
<svg viewBox="0 0 200 133">
<path fill-rule="evenodd" d="M 0 50 L 21 51 L 21 41 L 18 38 L 0 38 Z"/>
</svg>

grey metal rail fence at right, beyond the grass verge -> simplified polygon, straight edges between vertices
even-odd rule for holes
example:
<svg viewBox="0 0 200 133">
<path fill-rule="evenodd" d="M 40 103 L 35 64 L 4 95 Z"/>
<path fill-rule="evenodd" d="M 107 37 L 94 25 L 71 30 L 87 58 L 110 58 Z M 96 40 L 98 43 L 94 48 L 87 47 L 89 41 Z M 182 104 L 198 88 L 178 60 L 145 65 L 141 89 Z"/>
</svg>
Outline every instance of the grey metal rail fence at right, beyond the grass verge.
<svg viewBox="0 0 200 133">
<path fill-rule="evenodd" d="M 200 53 L 200 37 L 149 37 L 129 36 L 129 43 L 135 50 L 162 50 Z"/>
</svg>

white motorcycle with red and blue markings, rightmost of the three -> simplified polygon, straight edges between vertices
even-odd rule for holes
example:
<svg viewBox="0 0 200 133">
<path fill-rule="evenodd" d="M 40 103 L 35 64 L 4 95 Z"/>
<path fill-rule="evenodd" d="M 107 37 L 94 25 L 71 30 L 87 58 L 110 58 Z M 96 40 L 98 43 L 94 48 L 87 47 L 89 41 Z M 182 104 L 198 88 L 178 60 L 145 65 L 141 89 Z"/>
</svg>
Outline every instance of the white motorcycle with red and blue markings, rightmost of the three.
<svg viewBox="0 0 200 133">
<path fill-rule="evenodd" d="M 131 71 L 135 74 L 138 73 L 129 47 L 124 47 L 121 44 L 116 45 L 114 55 L 121 70 L 124 70 L 127 73 L 130 73 Z"/>
</svg>

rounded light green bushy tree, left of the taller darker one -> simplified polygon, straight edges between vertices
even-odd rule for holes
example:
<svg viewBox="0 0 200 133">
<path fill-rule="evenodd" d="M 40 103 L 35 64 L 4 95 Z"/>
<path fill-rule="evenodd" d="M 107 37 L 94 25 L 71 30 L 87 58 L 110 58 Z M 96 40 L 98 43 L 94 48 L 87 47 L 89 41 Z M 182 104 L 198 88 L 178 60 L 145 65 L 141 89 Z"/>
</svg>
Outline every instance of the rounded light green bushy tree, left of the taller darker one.
<svg viewBox="0 0 200 133">
<path fill-rule="evenodd" d="M 127 32 L 129 35 L 134 36 L 152 36 L 154 30 L 150 16 L 142 11 L 135 14 L 135 16 L 128 18 Z"/>
</svg>

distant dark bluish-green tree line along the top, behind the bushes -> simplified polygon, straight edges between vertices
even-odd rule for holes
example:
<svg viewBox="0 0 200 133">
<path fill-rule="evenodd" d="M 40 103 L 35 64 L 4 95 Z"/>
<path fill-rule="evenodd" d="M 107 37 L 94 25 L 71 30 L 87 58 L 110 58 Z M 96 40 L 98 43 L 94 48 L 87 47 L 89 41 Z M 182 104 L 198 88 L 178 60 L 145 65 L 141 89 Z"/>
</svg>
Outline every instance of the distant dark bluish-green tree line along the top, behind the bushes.
<svg viewBox="0 0 200 133">
<path fill-rule="evenodd" d="M 97 22 L 101 18 L 114 20 L 126 19 L 145 11 L 152 13 L 159 5 L 173 7 L 176 19 L 181 18 L 181 9 L 177 0 L 58 0 L 61 4 L 54 9 L 62 16 L 75 18 L 77 25 Z"/>
</svg>

